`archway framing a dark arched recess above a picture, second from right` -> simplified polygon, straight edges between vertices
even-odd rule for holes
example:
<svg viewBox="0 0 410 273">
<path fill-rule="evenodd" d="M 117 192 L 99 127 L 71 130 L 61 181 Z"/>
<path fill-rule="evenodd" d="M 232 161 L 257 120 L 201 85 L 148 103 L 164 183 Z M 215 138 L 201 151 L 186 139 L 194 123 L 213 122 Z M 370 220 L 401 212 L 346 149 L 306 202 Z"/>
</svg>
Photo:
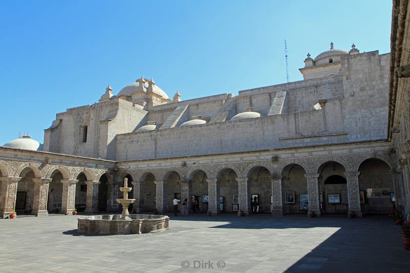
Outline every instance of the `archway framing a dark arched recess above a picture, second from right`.
<svg viewBox="0 0 410 273">
<path fill-rule="evenodd" d="M 347 182 L 345 167 L 336 161 L 320 165 L 319 198 L 320 209 L 326 214 L 345 214 L 348 211 Z"/>
</svg>

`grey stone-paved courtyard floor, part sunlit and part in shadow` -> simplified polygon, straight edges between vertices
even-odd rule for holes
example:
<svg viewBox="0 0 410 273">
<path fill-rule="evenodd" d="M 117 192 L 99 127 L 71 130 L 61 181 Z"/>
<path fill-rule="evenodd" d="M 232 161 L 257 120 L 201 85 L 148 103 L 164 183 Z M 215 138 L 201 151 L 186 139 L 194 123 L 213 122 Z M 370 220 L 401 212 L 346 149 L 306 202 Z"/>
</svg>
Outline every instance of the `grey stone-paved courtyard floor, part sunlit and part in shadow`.
<svg viewBox="0 0 410 273">
<path fill-rule="evenodd" d="M 410 251 L 404 249 L 399 227 L 388 217 L 196 215 L 171 218 L 170 225 L 165 233 L 83 236 L 76 233 L 77 216 L 1 219 L 0 271 L 409 272 L 410 268 Z M 208 261 L 213 268 L 208 268 Z"/>
</svg>

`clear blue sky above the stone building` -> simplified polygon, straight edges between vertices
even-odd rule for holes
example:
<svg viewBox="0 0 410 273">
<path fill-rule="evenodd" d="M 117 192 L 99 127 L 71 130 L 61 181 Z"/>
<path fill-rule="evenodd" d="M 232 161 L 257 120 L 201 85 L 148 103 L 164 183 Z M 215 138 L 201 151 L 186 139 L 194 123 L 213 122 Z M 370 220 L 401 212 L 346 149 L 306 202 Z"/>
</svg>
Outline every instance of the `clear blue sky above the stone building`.
<svg viewBox="0 0 410 273">
<path fill-rule="evenodd" d="M 392 1 L 2 1 L 0 145 L 141 75 L 172 98 L 290 81 L 309 52 L 390 51 Z"/>
</svg>

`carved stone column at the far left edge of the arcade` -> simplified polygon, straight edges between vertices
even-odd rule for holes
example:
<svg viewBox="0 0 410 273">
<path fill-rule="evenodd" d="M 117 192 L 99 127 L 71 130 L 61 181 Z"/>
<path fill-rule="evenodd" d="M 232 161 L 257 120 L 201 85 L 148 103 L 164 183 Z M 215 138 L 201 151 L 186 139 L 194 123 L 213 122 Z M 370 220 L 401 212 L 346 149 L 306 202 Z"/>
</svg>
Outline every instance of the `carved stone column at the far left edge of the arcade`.
<svg viewBox="0 0 410 273">
<path fill-rule="evenodd" d="M 17 183 L 21 177 L 0 177 L 0 216 L 8 218 L 15 211 Z"/>
</svg>

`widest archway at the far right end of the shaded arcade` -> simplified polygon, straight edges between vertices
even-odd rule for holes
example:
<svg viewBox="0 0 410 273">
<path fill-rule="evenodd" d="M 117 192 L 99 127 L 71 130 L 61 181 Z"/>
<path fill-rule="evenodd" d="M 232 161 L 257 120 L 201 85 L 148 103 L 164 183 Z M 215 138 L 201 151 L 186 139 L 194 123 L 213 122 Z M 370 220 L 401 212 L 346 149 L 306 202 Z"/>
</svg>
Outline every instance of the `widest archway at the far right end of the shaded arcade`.
<svg viewBox="0 0 410 273">
<path fill-rule="evenodd" d="M 366 214 L 392 213 L 394 203 L 393 179 L 389 165 L 376 158 L 363 161 L 358 171 L 362 212 Z"/>
</svg>

